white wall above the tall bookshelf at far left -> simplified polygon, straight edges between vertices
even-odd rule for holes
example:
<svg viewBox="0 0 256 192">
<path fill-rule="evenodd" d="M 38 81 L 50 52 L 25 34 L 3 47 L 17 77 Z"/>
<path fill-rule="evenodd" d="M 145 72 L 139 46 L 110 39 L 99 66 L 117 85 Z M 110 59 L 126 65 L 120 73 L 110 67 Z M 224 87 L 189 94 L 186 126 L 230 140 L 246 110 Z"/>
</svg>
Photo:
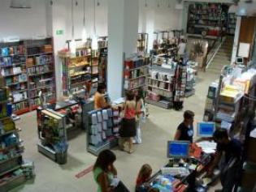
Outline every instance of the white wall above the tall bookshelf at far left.
<svg viewBox="0 0 256 192">
<path fill-rule="evenodd" d="M 46 36 L 44 0 L 31 1 L 31 9 L 11 9 L 10 3 L 10 0 L 0 2 L 0 41 L 6 36 L 20 36 L 21 39 Z"/>
</svg>

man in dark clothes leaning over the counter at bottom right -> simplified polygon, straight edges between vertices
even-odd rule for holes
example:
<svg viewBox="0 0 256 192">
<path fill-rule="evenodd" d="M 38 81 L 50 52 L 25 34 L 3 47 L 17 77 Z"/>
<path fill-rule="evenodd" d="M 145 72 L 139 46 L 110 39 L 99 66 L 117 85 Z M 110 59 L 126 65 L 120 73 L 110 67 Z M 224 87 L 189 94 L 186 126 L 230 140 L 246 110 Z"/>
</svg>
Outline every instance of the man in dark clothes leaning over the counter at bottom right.
<svg viewBox="0 0 256 192">
<path fill-rule="evenodd" d="M 217 149 L 215 160 L 208 170 L 208 175 L 212 175 L 213 170 L 222 160 L 223 163 L 219 169 L 221 171 L 220 181 L 223 189 L 215 191 L 232 192 L 241 170 L 241 142 L 236 139 L 230 139 L 228 137 L 228 131 L 224 129 L 215 130 L 213 137 L 217 143 Z"/>
</svg>

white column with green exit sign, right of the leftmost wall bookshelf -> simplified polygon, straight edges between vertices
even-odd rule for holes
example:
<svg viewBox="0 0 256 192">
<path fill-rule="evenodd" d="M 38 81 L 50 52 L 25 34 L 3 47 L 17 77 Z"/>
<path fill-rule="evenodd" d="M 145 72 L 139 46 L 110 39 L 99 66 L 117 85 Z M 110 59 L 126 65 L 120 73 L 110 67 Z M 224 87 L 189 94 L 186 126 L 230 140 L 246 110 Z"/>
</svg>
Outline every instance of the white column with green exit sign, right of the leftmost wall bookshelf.
<svg viewBox="0 0 256 192">
<path fill-rule="evenodd" d="M 63 96 L 62 68 L 58 57 L 58 51 L 67 46 L 66 44 L 66 1 L 46 1 L 46 26 L 47 35 L 54 38 L 54 57 L 55 57 L 55 80 L 56 96 L 59 99 Z M 63 30 L 63 35 L 57 35 L 57 30 Z"/>
</svg>

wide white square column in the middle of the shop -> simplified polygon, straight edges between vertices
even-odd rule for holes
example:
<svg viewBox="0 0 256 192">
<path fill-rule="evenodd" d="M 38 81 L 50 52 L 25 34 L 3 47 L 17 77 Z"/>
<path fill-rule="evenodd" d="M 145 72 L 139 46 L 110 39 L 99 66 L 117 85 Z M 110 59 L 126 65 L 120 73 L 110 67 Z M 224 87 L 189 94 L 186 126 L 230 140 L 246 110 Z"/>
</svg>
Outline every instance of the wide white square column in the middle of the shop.
<svg viewBox="0 0 256 192">
<path fill-rule="evenodd" d="M 111 100 L 122 96 L 124 53 L 137 52 L 138 0 L 109 0 L 107 92 Z"/>
</svg>

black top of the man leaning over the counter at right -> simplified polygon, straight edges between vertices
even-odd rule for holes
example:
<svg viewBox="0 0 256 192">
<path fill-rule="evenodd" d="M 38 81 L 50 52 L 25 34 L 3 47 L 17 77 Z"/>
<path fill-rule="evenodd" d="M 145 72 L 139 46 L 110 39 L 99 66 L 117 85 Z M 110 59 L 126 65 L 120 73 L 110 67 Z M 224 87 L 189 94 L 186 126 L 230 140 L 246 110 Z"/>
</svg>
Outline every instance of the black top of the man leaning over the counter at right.
<svg viewBox="0 0 256 192">
<path fill-rule="evenodd" d="M 228 161 L 232 157 L 241 158 L 242 146 L 241 142 L 237 139 L 232 139 L 228 144 L 217 144 L 217 151 L 225 152 L 225 161 Z"/>
</svg>

